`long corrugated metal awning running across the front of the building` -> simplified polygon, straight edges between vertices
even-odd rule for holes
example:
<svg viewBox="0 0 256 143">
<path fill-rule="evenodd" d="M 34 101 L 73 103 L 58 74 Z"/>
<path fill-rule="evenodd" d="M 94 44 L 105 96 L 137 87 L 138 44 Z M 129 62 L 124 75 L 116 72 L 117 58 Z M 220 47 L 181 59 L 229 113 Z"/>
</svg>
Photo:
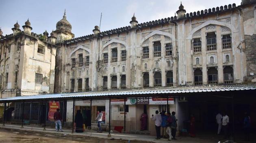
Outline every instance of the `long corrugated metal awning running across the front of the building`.
<svg viewBox="0 0 256 143">
<path fill-rule="evenodd" d="M 138 95 L 145 96 L 159 96 L 159 94 L 175 94 L 180 96 L 186 96 L 186 94 L 200 94 L 203 92 L 224 92 L 224 91 L 239 91 L 239 90 L 256 90 L 256 85 L 230 85 L 221 87 L 216 86 L 186 86 L 186 87 L 172 87 L 172 88 L 152 88 L 152 89 L 137 89 L 137 90 L 124 90 L 124 91 L 106 91 L 106 92 L 77 92 L 77 93 L 65 93 L 65 94 L 43 94 L 33 96 L 17 96 L 11 98 L 1 98 L 0 102 L 6 101 L 29 101 L 29 100 L 43 100 L 43 99 L 54 99 L 54 100 L 65 100 L 76 98 L 88 98 L 88 99 L 106 99 L 106 98 L 117 98 L 125 97 L 132 98 Z M 172 95 L 170 95 L 172 96 Z"/>
</svg>

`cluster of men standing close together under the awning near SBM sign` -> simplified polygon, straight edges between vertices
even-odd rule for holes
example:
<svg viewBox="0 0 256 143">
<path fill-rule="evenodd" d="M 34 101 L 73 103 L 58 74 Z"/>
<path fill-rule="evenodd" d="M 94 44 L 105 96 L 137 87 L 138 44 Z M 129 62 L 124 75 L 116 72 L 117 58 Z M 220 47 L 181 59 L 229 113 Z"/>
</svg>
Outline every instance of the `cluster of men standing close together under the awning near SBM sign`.
<svg viewBox="0 0 256 143">
<path fill-rule="evenodd" d="M 176 129 L 177 129 L 177 119 L 175 117 L 175 112 L 167 112 L 165 115 L 165 111 L 161 112 L 161 115 L 158 114 L 159 111 L 156 110 L 156 115 L 152 114 L 151 119 L 155 121 L 156 127 L 156 139 L 161 139 L 161 137 L 166 138 L 168 134 L 168 140 L 176 140 Z"/>
</svg>

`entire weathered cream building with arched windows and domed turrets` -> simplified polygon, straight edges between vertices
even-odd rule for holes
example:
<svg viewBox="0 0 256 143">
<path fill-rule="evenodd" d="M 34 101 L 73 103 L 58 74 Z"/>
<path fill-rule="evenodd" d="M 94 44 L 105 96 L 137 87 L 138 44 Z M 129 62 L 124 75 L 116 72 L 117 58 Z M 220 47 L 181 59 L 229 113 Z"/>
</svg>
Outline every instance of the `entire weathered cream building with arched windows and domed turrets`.
<svg viewBox="0 0 256 143">
<path fill-rule="evenodd" d="M 2 36 L 0 32 L 2 97 L 193 89 L 256 81 L 256 0 L 191 13 L 180 4 L 176 14 L 144 23 L 133 15 L 130 26 L 104 32 L 95 26 L 93 34 L 77 38 L 66 13 L 50 37 L 47 32 L 41 36 L 31 33 L 28 21 L 23 32 L 15 24 L 13 34 Z M 74 106 L 88 113 L 95 126 L 99 109 L 105 115 L 111 112 L 112 124 L 120 126 L 125 114 L 127 130 L 139 130 L 140 115 L 145 111 L 148 115 L 155 110 L 176 111 L 183 121 L 189 113 L 202 119 L 200 115 L 210 109 L 228 106 L 226 100 L 212 103 L 208 98 L 191 99 L 192 104 L 175 97 L 142 100 L 135 104 L 128 99 L 126 105 L 125 100 L 112 100 L 111 111 L 109 100 L 81 100 Z M 245 100 L 237 104 L 253 105 Z M 67 101 L 65 106 L 65 122 L 72 122 L 73 102 Z M 108 124 L 107 118 L 104 123 Z M 182 126 L 178 122 L 178 128 Z M 149 120 L 148 130 L 153 128 Z"/>
</svg>

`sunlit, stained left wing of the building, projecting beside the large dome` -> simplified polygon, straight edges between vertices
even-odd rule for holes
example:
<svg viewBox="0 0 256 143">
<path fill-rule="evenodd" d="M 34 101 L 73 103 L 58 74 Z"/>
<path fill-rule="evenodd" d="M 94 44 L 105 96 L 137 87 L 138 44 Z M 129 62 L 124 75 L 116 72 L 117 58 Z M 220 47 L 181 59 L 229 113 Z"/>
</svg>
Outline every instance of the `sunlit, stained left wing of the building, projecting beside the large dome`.
<svg viewBox="0 0 256 143">
<path fill-rule="evenodd" d="M 31 32 L 29 20 L 22 28 L 17 22 L 13 34 L 0 31 L 1 98 L 54 92 L 56 35 Z"/>
</svg>

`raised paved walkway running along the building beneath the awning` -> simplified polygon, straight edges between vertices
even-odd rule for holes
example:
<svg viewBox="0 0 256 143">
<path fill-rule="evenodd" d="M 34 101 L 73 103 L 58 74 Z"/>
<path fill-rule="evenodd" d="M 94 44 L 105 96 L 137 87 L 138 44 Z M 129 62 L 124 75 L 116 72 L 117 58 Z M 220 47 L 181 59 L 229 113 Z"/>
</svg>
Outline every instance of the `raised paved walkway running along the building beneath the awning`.
<svg viewBox="0 0 256 143">
<path fill-rule="evenodd" d="M 43 130 L 43 128 L 40 127 L 31 127 L 31 126 L 24 126 L 24 128 L 21 128 L 20 125 L 10 125 L 6 124 L 5 126 L 2 126 L 0 124 L 0 128 L 5 129 L 14 129 L 14 130 L 24 130 L 24 131 L 36 131 L 36 132 L 44 132 L 49 134 L 59 134 L 59 135 L 78 135 L 78 136 L 88 136 L 88 137 L 97 137 L 102 139 L 108 138 L 108 132 L 102 132 L 98 133 L 94 130 L 88 130 L 87 132 L 83 133 L 72 133 L 72 130 L 70 129 L 64 129 L 64 132 L 56 132 L 54 128 L 46 128 L 46 130 Z M 156 140 L 154 136 L 149 135 L 140 135 L 140 134 L 122 134 L 122 133 L 114 133 L 111 132 L 111 139 L 122 139 L 122 140 L 130 140 L 130 142 L 137 140 L 137 141 L 148 141 L 153 143 L 217 143 L 218 139 L 204 139 L 204 138 L 191 138 L 191 137 L 177 137 L 178 140 L 172 140 L 168 141 L 167 139 L 159 139 Z M 109 138 L 108 138 L 109 139 Z"/>
</svg>

